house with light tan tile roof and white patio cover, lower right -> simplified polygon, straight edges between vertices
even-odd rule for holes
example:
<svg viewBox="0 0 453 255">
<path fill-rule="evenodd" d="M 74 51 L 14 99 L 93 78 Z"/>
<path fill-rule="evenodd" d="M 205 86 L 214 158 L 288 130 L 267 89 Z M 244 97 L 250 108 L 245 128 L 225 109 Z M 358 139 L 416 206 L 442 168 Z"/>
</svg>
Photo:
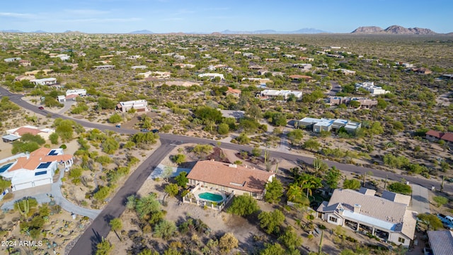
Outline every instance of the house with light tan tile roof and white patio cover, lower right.
<svg viewBox="0 0 453 255">
<path fill-rule="evenodd" d="M 339 188 L 316 211 L 322 220 L 333 225 L 408 247 L 414 239 L 417 212 L 408 210 L 406 203 L 398 203 L 400 199 L 405 201 Z"/>
</svg>

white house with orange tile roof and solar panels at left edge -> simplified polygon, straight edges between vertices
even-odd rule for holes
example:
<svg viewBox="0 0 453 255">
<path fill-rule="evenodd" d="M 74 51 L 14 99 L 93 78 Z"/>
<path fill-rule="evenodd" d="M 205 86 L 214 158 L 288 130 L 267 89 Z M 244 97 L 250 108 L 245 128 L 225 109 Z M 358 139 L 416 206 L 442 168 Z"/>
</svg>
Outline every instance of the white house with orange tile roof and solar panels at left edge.
<svg viewBox="0 0 453 255">
<path fill-rule="evenodd" d="M 64 154 L 63 149 L 42 147 L 0 160 L 0 175 L 11 181 L 13 191 L 19 191 L 53 183 L 59 164 L 69 171 L 73 163 L 72 155 Z"/>
</svg>

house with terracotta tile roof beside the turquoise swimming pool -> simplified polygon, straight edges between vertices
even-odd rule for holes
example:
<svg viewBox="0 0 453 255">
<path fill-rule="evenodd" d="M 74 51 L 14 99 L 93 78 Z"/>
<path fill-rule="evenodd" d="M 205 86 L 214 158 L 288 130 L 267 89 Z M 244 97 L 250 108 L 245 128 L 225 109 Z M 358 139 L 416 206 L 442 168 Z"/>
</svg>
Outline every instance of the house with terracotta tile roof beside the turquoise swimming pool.
<svg viewBox="0 0 453 255">
<path fill-rule="evenodd" d="M 235 196 L 250 195 L 263 199 L 265 185 L 275 173 L 213 160 L 202 160 L 193 166 L 187 178 L 190 186 L 201 186 L 207 191 L 234 192 Z"/>
</svg>

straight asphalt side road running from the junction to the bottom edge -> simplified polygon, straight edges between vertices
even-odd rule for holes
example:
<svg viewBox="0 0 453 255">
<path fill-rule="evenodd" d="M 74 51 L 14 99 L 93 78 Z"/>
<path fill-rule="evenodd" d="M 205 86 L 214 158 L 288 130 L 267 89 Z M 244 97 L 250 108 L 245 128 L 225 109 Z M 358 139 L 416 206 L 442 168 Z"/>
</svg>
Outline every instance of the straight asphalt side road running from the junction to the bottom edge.
<svg viewBox="0 0 453 255">
<path fill-rule="evenodd" d="M 154 168 L 166 157 L 168 153 L 173 149 L 171 141 L 164 140 L 161 147 L 146 159 L 127 179 L 124 186 L 116 193 L 116 195 L 110 200 L 110 203 L 104 208 L 104 210 L 93 220 L 93 223 L 86 229 L 84 234 L 81 235 L 77 240 L 74 247 L 71 249 L 69 254 L 81 255 L 81 254 L 94 254 L 96 251 L 96 244 L 101 242 L 102 237 L 107 237 L 110 232 L 110 226 L 108 222 L 115 217 L 120 217 L 122 212 L 125 210 L 125 204 L 128 196 L 135 195 L 140 187 L 142 187 L 144 181 L 148 179 L 148 176 L 154 170 Z"/>
</svg>

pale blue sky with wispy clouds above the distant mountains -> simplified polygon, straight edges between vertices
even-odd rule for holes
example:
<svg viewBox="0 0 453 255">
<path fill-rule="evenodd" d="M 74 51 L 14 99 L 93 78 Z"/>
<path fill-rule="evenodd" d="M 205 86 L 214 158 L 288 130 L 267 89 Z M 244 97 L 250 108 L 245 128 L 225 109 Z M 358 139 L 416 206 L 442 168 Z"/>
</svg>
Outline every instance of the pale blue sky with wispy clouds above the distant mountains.
<svg viewBox="0 0 453 255">
<path fill-rule="evenodd" d="M 360 26 L 453 32 L 453 1 L 18 0 L 2 1 L 0 30 L 85 33 L 279 31 L 350 33 Z"/>
</svg>

